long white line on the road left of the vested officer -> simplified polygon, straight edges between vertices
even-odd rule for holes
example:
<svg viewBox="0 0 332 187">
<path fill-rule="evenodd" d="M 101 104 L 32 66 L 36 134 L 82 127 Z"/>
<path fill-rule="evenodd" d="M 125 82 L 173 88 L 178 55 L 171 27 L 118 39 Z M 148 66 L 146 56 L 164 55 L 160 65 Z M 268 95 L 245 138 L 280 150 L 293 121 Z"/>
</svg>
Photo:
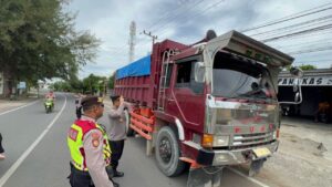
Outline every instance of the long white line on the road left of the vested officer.
<svg viewBox="0 0 332 187">
<path fill-rule="evenodd" d="M 34 147 L 42 141 L 42 138 L 46 135 L 46 133 L 54 125 L 56 120 L 60 117 L 62 112 L 66 105 L 66 96 L 64 96 L 64 104 L 60 111 L 60 113 L 53 118 L 53 121 L 48 125 L 48 127 L 42 132 L 42 134 L 31 144 L 31 146 L 22 154 L 22 156 L 7 170 L 7 173 L 0 179 L 0 186 L 3 186 L 6 181 L 14 174 L 14 172 L 20 167 L 20 165 L 24 162 L 24 159 L 30 155 L 30 153 L 34 149 Z"/>
</svg>

